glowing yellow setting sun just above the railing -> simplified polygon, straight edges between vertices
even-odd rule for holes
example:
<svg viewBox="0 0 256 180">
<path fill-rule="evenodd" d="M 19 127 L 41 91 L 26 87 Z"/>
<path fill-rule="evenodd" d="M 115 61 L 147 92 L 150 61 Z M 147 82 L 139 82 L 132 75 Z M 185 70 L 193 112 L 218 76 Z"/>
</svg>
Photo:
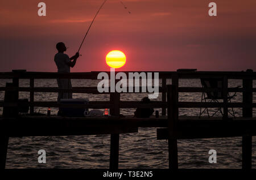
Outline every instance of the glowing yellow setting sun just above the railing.
<svg viewBox="0 0 256 180">
<path fill-rule="evenodd" d="M 109 67 L 119 68 L 125 65 L 126 56 L 119 50 L 112 50 L 106 55 L 106 63 Z"/>
</svg>

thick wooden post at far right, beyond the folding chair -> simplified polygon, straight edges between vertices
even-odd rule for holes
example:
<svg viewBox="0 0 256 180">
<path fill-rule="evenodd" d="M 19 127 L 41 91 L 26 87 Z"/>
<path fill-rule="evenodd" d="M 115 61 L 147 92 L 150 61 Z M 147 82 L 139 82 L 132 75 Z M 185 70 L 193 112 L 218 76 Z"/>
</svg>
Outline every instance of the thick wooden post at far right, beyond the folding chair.
<svg viewBox="0 0 256 180">
<path fill-rule="evenodd" d="M 253 117 L 253 80 L 243 79 L 243 109 L 244 118 Z M 246 105 L 246 106 L 245 106 Z M 250 133 L 242 138 L 242 169 L 251 169 L 251 143 Z"/>
</svg>

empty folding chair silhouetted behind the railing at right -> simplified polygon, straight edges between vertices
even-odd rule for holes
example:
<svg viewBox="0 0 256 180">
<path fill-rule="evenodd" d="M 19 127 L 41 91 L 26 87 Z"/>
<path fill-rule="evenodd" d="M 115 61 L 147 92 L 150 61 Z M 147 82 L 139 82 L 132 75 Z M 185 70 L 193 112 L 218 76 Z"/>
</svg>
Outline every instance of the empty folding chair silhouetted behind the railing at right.
<svg viewBox="0 0 256 180">
<path fill-rule="evenodd" d="M 223 95 L 224 78 L 201 78 L 201 85 L 202 85 L 202 88 L 205 89 L 205 91 L 202 92 L 201 102 L 203 102 L 203 101 L 207 102 L 207 100 L 210 100 L 209 102 L 217 102 L 218 103 L 219 100 L 224 99 L 224 95 Z M 241 87 L 241 86 L 238 86 L 236 88 L 239 88 L 239 87 Z M 219 89 L 221 89 L 221 91 L 209 91 L 209 88 L 219 88 Z M 234 98 L 236 96 L 236 93 L 237 92 L 235 92 L 234 95 L 232 95 L 232 96 L 230 96 L 228 93 L 228 102 L 231 102 L 232 98 Z M 208 108 L 205 108 L 202 111 L 202 107 L 201 107 L 199 118 L 205 112 L 205 110 L 207 111 L 208 117 L 210 117 Z M 211 117 L 213 117 L 217 112 L 220 112 L 221 115 L 223 116 L 223 112 L 220 107 L 220 108 L 217 108 L 217 110 L 211 115 Z M 233 108 L 232 108 L 232 112 L 230 112 L 228 110 L 228 113 L 231 114 L 233 117 L 236 117 Z"/>
</svg>

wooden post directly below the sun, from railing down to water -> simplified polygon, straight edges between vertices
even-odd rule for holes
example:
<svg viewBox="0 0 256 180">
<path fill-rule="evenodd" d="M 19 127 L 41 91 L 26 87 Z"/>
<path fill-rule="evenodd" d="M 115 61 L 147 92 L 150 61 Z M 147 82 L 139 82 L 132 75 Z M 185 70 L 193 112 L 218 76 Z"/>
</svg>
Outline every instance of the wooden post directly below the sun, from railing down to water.
<svg viewBox="0 0 256 180">
<path fill-rule="evenodd" d="M 119 115 L 120 93 L 110 93 L 110 103 L 114 104 L 114 108 L 110 109 L 110 115 Z M 118 169 L 119 158 L 119 134 L 111 134 L 110 136 L 110 162 L 109 169 Z"/>
</svg>

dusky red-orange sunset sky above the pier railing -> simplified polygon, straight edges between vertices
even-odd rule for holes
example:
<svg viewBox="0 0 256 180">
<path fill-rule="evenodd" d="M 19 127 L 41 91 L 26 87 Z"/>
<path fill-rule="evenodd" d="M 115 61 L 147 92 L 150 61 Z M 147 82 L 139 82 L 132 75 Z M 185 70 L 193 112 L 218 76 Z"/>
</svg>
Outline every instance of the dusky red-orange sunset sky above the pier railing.
<svg viewBox="0 0 256 180">
<path fill-rule="evenodd" d="M 39 17 L 45 2 L 47 16 Z M 56 71 L 56 42 L 72 56 L 103 0 L 0 2 L 0 71 Z M 217 17 L 208 15 L 217 3 Z M 256 1 L 108 0 L 71 72 L 105 71 L 105 55 L 126 54 L 122 71 L 256 70 Z"/>
</svg>

